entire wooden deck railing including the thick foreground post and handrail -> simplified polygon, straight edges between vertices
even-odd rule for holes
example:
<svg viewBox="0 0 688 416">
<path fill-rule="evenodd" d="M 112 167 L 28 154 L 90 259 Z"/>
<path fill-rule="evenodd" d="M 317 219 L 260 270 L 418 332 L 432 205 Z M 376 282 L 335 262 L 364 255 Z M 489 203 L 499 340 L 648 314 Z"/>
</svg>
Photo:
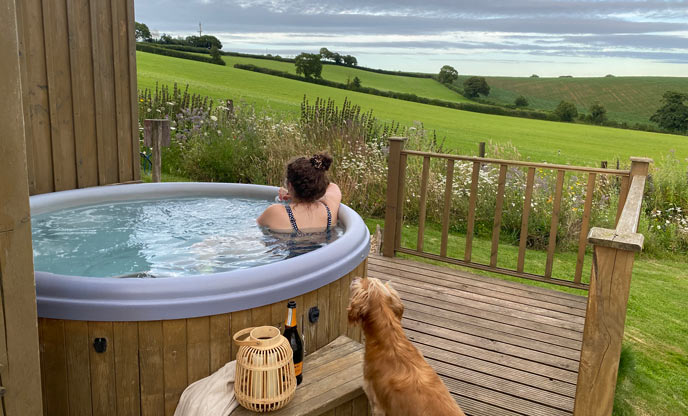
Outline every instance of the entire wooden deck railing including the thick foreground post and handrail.
<svg viewBox="0 0 688 416">
<path fill-rule="evenodd" d="M 409 151 L 403 150 L 404 140 L 403 138 L 397 137 L 390 138 L 387 211 L 385 214 L 383 255 L 393 257 L 395 252 L 407 253 L 433 260 L 473 267 L 483 271 L 519 276 L 569 287 L 588 288 L 588 304 L 583 331 L 578 381 L 576 385 L 574 416 L 611 415 L 614 405 L 614 391 L 616 388 L 621 343 L 626 320 L 626 305 L 630 291 L 633 261 L 635 253 L 640 251 L 643 246 L 643 235 L 638 234 L 636 231 L 640 219 L 645 180 L 652 160 L 646 158 L 631 158 L 631 169 L 628 171 L 596 169 Z M 408 157 L 423 158 L 416 249 L 402 247 L 401 245 L 402 207 Z M 447 163 L 439 255 L 427 253 L 423 249 L 431 158 L 442 158 L 445 159 Z M 451 196 L 453 192 L 452 181 L 454 163 L 457 160 L 473 163 L 468 202 L 466 247 L 463 258 L 461 259 L 449 257 L 447 255 Z M 479 197 L 478 180 L 480 177 L 480 169 L 483 164 L 495 164 L 499 166 L 494 225 L 492 230 L 492 249 L 489 264 L 481 264 L 472 261 L 476 201 Z M 496 266 L 506 174 L 510 166 L 519 166 L 528 169 L 521 222 L 518 263 L 515 270 Z M 535 275 L 523 271 L 526 248 L 525 238 L 528 235 L 528 216 L 530 212 L 530 200 L 533 195 L 533 183 L 536 169 L 552 169 L 557 172 L 556 186 L 553 195 L 549 244 L 547 248 L 547 261 L 545 273 L 543 275 Z M 584 172 L 588 177 L 583 217 L 581 221 L 576 271 L 573 281 L 555 279 L 552 277 L 553 253 L 556 247 L 556 231 L 559 222 L 564 175 L 567 171 Z M 610 230 L 595 227 L 588 232 L 593 191 L 598 175 L 613 175 L 621 179 L 616 228 Z M 589 285 L 581 283 L 586 244 L 591 244 L 593 246 L 592 273 Z"/>
</svg>

